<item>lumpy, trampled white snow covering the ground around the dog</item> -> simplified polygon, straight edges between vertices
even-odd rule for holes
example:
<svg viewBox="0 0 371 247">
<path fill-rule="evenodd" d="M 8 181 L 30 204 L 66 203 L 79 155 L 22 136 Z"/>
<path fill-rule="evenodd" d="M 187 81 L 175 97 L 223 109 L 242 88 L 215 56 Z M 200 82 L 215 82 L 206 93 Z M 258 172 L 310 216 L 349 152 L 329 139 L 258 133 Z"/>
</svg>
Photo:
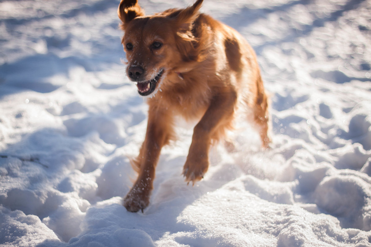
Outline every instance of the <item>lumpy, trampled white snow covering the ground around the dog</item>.
<svg viewBox="0 0 371 247">
<path fill-rule="evenodd" d="M 121 63 L 118 3 L 0 1 L 1 246 L 371 246 L 370 0 L 205 0 L 256 50 L 272 148 L 242 123 L 239 150 L 214 147 L 187 186 L 180 127 L 143 214 L 121 205 L 147 105 Z"/>
</svg>

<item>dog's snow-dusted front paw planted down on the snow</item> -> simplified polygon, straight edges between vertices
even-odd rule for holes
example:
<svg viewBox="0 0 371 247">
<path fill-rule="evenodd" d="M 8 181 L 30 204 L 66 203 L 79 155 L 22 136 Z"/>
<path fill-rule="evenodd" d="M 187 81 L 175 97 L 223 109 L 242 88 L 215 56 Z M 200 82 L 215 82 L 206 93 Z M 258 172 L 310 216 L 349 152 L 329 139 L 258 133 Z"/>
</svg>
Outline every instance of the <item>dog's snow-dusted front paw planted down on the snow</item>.
<svg viewBox="0 0 371 247">
<path fill-rule="evenodd" d="M 129 212 L 138 212 L 150 204 L 150 197 L 141 188 L 133 187 L 125 196 L 122 203 Z"/>
</svg>

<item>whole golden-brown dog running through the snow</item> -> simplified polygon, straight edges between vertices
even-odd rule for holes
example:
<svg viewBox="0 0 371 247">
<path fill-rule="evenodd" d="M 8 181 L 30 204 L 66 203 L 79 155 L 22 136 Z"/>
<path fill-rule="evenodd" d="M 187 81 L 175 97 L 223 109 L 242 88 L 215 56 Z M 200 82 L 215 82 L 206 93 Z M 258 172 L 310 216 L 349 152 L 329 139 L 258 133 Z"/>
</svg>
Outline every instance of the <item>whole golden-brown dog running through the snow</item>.
<svg viewBox="0 0 371 247">
<path fill-rule="evenodd" d="M 132 161 L 138 178 L 124 198 L 128 211 L 149 204 L 161 148 L 175 139 L 175 116 L 198 121 L 183 168 L 188 183 L 203 178 L 209 148 L 232 129 L 237 108 L 250 113 L 268 148 L 267 96 L 255 53 L 237 31 L 199 13 L 202 2 L 148 16 L 137 0 L 119 5 L 127 75 L 149 105 L 145 140 Z"/>
</svg>

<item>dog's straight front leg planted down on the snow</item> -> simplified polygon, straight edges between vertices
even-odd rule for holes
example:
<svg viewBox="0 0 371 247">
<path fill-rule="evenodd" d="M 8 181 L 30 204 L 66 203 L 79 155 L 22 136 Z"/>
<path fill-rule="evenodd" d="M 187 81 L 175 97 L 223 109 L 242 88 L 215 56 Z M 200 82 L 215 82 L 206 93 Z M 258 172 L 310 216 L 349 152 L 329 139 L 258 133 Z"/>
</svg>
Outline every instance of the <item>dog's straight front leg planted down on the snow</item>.
<svg viewBox="0 0 371 247">
<path fill-rule="evenodd" d="M 171 120 L 158 111 L 149 111 L 145 140 L 139 156 L 134 161 L 138 167 L 138 178 L 124 198 L 124 206 L 130 212 L 137 212 L 148 206 L 155 178 L 155 168 L 161 148 L 168 143 L 172 134 Z"/>
</svg>

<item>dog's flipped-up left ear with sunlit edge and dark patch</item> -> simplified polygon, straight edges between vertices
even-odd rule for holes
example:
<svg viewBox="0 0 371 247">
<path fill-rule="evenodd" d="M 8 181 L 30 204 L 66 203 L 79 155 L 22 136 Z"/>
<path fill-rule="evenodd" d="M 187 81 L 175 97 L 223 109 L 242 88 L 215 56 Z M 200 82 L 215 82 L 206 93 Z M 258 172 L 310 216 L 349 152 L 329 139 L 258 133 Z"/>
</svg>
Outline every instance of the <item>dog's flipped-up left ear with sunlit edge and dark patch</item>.
<svg viewBox="0 0 371 247">
<path fill-rule="evenodd" d="M 139 6 L 137 0 L 121 0 L 117 14 L 122 21 L 121 28 L 124 29 L 129 21 L 138 16 L 144 16 L 144 10 Z"/>
</svg>

